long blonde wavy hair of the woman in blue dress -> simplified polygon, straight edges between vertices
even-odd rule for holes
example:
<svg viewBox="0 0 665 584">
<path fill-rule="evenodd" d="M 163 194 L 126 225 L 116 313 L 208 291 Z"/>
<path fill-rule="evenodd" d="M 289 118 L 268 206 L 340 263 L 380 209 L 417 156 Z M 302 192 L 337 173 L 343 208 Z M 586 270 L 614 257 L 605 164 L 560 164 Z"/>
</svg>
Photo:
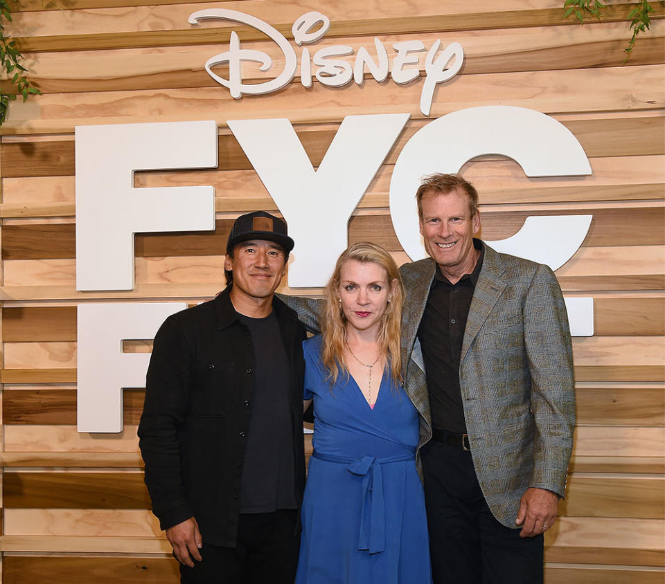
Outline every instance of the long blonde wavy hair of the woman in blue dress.
<svg viewBox="0 0 665 584">
<path fill-rule="evenodd" d="M 400 326 L 402 322 L 402 304 L 404 304 L 404 286 L 395 260 L 384 248 L 360 241 L 344 250 L 337 259 L 335 271 L 326 284 L 326 301 L 321 310 L 321 334 L 323 336 L 321 361 L 328 370 L 330 385 L 335 385 L 340 372 L 348 379 L 348 369 L 344 363 L 344 344 L 346 343 L 346 316 L 339 302 L 339 282 L 342 266 L 355 259 L 357 262 L 373 262 L 387 273 L 388 285 L 391 286 L 391 301 L 380 321 L 378 343 L 390 367 L 394 383 L 402 381 L 402 359 L 400 356 Z M 393 280 L 397 283 L 393 285 Z"/>
</svg>

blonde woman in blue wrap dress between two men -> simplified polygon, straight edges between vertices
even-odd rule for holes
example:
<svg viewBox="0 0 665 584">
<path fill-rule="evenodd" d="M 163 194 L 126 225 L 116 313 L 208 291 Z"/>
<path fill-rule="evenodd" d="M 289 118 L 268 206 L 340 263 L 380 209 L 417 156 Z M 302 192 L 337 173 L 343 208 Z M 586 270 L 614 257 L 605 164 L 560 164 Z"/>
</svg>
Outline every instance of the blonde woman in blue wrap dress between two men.
<svg viewBox="0 0 665 584">
<path fill-rule="evenodd" d="M 392 257 L 360 243 L 337 260 L 320 336 L 306 340 L 314 453 L 296 584 L 429 584 L 418 412 L 400 383 L 404 291 Z"/>
</svg>

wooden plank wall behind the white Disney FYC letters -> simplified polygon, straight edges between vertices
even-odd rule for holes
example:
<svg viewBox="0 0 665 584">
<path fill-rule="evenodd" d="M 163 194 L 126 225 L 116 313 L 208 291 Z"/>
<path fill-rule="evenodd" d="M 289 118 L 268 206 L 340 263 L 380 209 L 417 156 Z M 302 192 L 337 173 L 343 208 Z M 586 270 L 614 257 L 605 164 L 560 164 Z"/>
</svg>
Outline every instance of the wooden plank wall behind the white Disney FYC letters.
<svg viewBox="0 0 665 584">
<path fill-rule="evenodd" d="M 234 217 L 276 211 L 227 119 L 292 120 L 317 165 L 344 116 L 410 112 L 411 120 L 349 223 L 350 241 L 377 241 L 406 261 L 388 212 L 391 170 L 429 119 L 511 104 L 560 120 L 582 143 L 592 176 L 526 179 L 505 158 L 471 161 L 486 239 L 527 215 L 591 213 L 589 235 L 557 271 L 565 293 L 595 299 L 596 334 L 574 339 L 578 428 L 562 518 L 547 534 L 548 584 L 663 581 L 665 472 L 665 10 L 623 65 L 631 5 L 610 1 L 603 23 L 562 21 L 560 0 L 17 0 L 9 32 L 44 95 L 12 104 L 0 129 L 2 255 L 2 577 L 6 584 L 172 583 L 177 566 L 149 511 L 137 449 L 142 390 L 125 392 L 120 435 L 76 432 L 76 304 L 84 298 L 186 300 L 222 287 L 219 250 Z M 191 28 L 201 8 L 263 19 L 285 35 L 306 10 L 332 26 L 317 46 L 373 52 L 421 39 L 461 42 L 465 64 L 418 109 L 423 77 L 371 78 L 342 89 L 296 77 L 279 93 L 230 98 L 204 62 L 225 50 L 228 23 Z M 462 10 L 463 8 L 463 10 Z M 247 48 L 281 57 L 238 27 Z M 350 57 L 352 58 L 352 57 Z M 424 55 L 420 59 L 423 71 Z M 247 69 L 260 80 L 263 73 Z M 214 235 L 136 237 L 136 287 L 75 289 L 76 125 L 218 120 L 217 170 L 145 172 L 137 186 L 215 185 Z M 454 139 L 454 138 L 453 138 Z M 332 201 L 330 204 L 334 204 Z M 285 283 L 283 290 L 288 291 Z M 308 290 L 307 293 L 317 293 Z M 150 343 L 127 343 L 149 351 Z"/>
</svg>

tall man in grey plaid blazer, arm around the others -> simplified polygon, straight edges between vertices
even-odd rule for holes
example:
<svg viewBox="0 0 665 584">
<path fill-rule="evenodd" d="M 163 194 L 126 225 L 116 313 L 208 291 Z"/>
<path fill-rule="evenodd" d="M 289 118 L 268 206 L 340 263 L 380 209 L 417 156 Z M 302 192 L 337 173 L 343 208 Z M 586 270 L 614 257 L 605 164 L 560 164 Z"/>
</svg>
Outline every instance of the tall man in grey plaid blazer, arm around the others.
<svg viewBox="0 0 665 584">
<path fill-rule="evenodd" d="M 575 424 L 567 313 L 551 269 L 497 253 L 475 188 L 416 194 L 429 258 L 400 268 L 405 390 L 420 412 L 434 584 L 535 584 Z M 284 298 L 317 331 L 317 301 Z"/>
</svg>

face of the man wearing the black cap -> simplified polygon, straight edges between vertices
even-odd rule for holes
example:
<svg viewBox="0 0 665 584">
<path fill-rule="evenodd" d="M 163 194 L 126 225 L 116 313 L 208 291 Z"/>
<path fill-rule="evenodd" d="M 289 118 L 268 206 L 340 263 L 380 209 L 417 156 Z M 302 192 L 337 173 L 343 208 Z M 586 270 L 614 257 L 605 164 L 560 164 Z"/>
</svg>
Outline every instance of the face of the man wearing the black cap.
<svg viewBox="0 0 665 584">
<path fill-rule="evenodd" d="M 286 272 L 286 255 L 278 244 L 265 239 L 243 241 L 224 259 L 224 269 L 233 271 L 231 301 L 236 310 L 247 302 L 272 300 Z"/>
</svg>

